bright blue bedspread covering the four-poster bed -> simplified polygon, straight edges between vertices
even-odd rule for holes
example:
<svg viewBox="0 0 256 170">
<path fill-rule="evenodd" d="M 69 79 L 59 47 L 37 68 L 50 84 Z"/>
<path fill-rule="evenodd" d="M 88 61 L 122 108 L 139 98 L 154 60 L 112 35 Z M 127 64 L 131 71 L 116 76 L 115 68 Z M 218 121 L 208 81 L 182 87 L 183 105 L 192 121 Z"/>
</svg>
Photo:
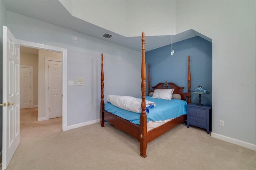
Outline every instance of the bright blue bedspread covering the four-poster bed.
<svg viewBox="0 0 256 170">
<path fill-rule="evenodd" d="M 166 119 L 172 119 L 187 114 L 186 101 L 178 99 L 152 99 L 151 96 L 146 96 L 146 100 L 156 103 L 156 106 L 154 108 L 150 108 L 149 113 L 146 113 L 147 122 L 164 121 Z M 122 117 L 134 124 L 140 125 L 140 113 L 120 109 L 109 102 L 105 103 L 105 111 Z"/>
</svg>

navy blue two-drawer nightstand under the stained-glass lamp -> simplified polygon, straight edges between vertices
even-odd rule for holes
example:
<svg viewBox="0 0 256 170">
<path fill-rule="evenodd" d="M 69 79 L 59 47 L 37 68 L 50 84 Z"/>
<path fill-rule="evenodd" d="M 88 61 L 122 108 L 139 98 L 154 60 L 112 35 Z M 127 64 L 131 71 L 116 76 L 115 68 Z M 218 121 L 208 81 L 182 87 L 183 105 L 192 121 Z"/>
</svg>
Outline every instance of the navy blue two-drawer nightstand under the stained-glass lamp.
<svg viewBox="0 0 256 170">
<path fill-rule="evenodd" d="M 187 114 L 187 127 L 192 125 L 205 128 L 206 132 L 209 133 L 212 128 L 212 106 L 189 103 Z"/>
</svg>

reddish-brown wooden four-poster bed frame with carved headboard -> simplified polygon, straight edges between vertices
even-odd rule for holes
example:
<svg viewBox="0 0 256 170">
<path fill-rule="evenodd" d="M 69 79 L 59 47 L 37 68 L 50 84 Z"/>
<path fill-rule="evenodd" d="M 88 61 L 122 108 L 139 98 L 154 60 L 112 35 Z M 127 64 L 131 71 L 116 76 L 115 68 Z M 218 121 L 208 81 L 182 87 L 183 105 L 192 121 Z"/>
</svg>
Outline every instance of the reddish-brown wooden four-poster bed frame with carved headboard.
<svg viewBox="0 0 256 170">
<path fill-rule="evenodd" d="M 134 138 L 136 138 L 140 142 L 140 156 L 142 158 L 145 158 L 146 150 L 147 150 L 147 144 L 157 138 L 158 136 L 164 134 L 165 132 L 169 131 L 170 129 L 176 127 L 180 123 L 184 122 L 186 120 L 186 115 L 182 115 L 180 117 L 177 117 L 175 119 L 172 119 L 171 121 L 168 121 L 164 123 L 163 125 L 153 128 L 152 130 L 147 132 L 147 115 L 146 115 L 146 62 L 145 62 L 145 34 L 142 32 L 142 63 L 141 63 L 141 92 L 142 92 L 142 103 L 141 108 L 142 112 L 140 115 L 140 125 L 136 125 L 131 123 L 130 121 L 127 121 L 125 119 L 122 119 L 121 117 L 118 117 L 112 113 L 109 113 L 104 110 L 104 71 L 103 71 L 103 54 L 101 54 L 101 102 L 100 102 L 100 122 L 101 127 L 104 127 L 104 122 L 108 121 L 114 127 L 123 130 L 127 132 L 128 134 L 132 135 Z M 149 70 L 150 72 L 150 70 Z M 171 88 L 174 88 L 174 93 L 179 93 L 182 96 L 182 99 L 186 101 L 186 97 L 188 97 L 187 103 L 191 103 L 190 101 L 190 56 L 188 56 L 188 93 L 182 93 L 182 90 L 184 87 L 179 87 L 174 83 L 158 83 L 158 85 L 152 87 L 152 89 L 163 89 L 168 88 L 170 86 Z M 150 87 L 150 75 L 148 76 L 148 84 Z M 150 88 L 148 93 L 150 93 Z"/>
</svg>

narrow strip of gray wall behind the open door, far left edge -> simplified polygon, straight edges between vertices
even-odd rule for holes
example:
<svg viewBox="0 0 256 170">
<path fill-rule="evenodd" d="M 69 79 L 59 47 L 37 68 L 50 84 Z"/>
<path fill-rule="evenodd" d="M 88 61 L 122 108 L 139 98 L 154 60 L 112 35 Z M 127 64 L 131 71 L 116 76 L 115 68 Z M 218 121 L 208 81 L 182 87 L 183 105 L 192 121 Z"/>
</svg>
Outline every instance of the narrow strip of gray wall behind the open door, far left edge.
<svg viewBox="0 0 256 170">
<path fill-rule="evenodd" d="M 4 6 L 4 3 L 0 0 L 0 103 L 3 103 L 3 26 L 6 26 L 7 24 L 7 11 L 6 7 Z M 2 126 L 3 126 L 3 109 L 0 107 L 0 151 L 1 151 L 1 157 L 2 157 Z"/>
</svg>

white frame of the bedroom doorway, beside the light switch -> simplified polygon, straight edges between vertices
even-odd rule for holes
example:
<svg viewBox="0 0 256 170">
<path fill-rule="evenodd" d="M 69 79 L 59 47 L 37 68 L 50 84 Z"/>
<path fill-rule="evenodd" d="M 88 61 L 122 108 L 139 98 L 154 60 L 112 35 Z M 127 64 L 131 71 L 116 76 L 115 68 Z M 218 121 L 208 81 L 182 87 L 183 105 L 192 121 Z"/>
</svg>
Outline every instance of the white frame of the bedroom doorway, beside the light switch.
<svg viewBox="0 0 256 170">
<path fill-rule="evenodd" d="M 67 124 L 68 124 L 68 97 L 67 97 L 67 91 L 68 91 L 68 85 L 66 82 L 68 82 L 68 50 L 66 48 L 60 48 L 60 47 L 54 47 L 51 45 L 45 45 L 35 42 L 28 42 L 24 40 L 17 39 L 17 42 L 21 46 L 25 47 L 32 47 L 37 49 L 44 49 L 48 51 L 54 51 L 54 52 L 61 52 L 62 53 L 62 131 L 67 130 Z"/>
</svg>

